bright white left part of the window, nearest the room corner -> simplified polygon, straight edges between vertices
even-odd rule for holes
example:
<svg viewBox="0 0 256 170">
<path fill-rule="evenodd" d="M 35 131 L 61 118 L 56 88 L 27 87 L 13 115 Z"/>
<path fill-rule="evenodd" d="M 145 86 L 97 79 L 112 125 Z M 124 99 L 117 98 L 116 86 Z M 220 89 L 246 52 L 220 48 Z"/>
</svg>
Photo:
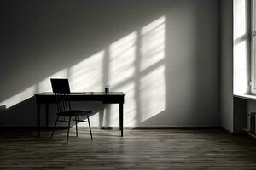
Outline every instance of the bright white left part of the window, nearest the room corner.
<svg viewBox="0 0 256 170">
<path fill-rule="evenodd" d="M 253 0 L 254 1 L 254 0 Z M 256 1 L 256 0 L 255 0 Z M 250 74 L 250 2 L 249 0 L 234 0 L 234 55 L 233 55 L 233 93 L 247 94 L 251 91 Z M 256 89 L 256 88 L 255 88 Z M 255 90 L 256 92 L 256 90 Z"/>
</svg>

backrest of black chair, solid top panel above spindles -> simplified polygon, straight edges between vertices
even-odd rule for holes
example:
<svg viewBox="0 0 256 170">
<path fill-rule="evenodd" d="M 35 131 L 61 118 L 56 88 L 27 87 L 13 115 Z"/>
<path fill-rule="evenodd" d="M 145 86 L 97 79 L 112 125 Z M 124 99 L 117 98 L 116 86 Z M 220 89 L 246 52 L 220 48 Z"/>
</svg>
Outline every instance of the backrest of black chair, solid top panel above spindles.
<svg viewBox="0 0 256 170">
<path fill-rule="evenodd" d="M 68 79 L 51 78 L 50 82 L 52 91 L 55 93 L 58 112 L 70 111 L 71 104 L 68 95 L 70 94 Z"/>
</svg>

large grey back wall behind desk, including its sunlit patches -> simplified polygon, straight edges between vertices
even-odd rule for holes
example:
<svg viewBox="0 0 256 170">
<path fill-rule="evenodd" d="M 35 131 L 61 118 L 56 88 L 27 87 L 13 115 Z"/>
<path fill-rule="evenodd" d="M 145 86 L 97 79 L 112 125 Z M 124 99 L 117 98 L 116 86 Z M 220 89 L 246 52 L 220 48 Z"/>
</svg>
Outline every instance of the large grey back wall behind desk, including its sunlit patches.
<svg viewBox="0 0 256 170">
<path fill-rule="evenodd" d="M 221 124 L 231 130 L 232 6 L 221 2 Z M 71 79 L 73 91 L 108 83 L 124 91 L 125 127 L 220 125 L 218 0 L 25 0 L 0 9 L 0 103 L 8 107 L 0 126 L 36 126 L 32 94 L 50 90 L 49 77 Z M 95 111 L 92 126 L 119 124 L 117 105 L 74 105 Z"/>
</svg>

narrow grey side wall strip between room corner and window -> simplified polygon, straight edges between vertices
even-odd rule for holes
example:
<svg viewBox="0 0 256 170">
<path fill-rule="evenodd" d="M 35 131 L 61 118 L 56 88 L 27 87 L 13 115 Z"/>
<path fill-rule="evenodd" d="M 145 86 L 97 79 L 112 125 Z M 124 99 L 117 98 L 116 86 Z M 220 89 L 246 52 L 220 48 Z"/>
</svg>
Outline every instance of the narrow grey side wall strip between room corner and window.
<svg viewBox="0 0 256 170">
<path fill-rule="evenodd" d="M 233 132 L 233 1 L 221 2 L 221 126 Z"/>
</svg>

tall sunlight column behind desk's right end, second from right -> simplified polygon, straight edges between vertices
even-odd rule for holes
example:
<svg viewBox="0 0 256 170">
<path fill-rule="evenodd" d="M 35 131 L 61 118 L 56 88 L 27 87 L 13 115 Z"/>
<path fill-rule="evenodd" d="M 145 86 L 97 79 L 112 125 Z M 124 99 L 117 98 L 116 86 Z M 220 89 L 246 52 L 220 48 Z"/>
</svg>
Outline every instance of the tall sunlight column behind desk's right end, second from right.
<svg viewBox="0 0 256 170">
<path fill-rule="evenodd" d="M 136 55 L 136 33 L 133 32 L 128 36 L 114 42 L 109 47 L 109 84 L 111 91 L 121 91 L 125 93 L 125 119 L 134 117 L 134 81 L 128 82 L 122 86 L 120 83 L 125 82 L 135 76 L 135 55 Z M 116 105 L 110 105 L 111 113 L 118 113 L 119 108 Z M 118 126 L 119 115 L 111 115 L 109 123 Z M 126 120 L 125 120 L 126 121 Z"/>
</svg>

